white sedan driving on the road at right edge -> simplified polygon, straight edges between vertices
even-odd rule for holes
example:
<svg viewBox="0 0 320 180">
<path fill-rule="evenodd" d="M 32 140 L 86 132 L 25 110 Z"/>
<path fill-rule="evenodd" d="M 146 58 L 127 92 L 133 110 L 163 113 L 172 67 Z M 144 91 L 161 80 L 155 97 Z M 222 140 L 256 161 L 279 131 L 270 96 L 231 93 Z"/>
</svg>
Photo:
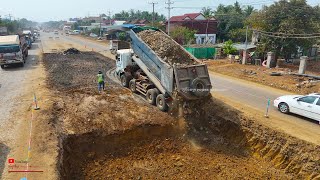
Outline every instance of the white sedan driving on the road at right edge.
<svg viewBox="0 0 320 180">
<path fill-rule="evenodd" d="M 282 113 L 299 114 L 320 123 L 320 93 L 281 96 L 274 100 L 274 106 Z"/>
</svg>

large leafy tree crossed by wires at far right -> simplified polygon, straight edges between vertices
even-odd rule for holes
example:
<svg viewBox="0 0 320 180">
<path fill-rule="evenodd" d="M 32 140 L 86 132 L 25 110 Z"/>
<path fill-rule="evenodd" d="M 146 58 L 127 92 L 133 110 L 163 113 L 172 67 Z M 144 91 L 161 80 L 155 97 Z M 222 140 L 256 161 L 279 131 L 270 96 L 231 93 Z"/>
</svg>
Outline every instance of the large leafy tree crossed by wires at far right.
<svg viewBox="0 0 320 180">
<path fill-rule="evenodd" d="M 306 0 L 280 0 L 269 7 L 253 13 L 247 23 L 254 29 L 283 34 L 312 34 L 319 32 L 319 7 L 312 7 Z M 316 39 L 277 38 L 262 35 L 260 45 L 276 55 L 290 58 L 299 48 L 306 51 Z"/>
</svg>

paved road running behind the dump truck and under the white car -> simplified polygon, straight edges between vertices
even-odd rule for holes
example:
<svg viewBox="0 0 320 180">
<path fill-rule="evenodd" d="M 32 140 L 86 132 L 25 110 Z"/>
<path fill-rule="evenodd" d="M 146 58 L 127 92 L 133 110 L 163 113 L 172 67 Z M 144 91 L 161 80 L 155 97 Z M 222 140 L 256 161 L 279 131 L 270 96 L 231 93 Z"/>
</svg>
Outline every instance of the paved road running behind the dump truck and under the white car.
<svg viewBox="0 0 320 180">
<path fill-rule="evenodd" d="M 60 36 L 60 39 L 72 44 L 86 46 L 87 48 L 94 48 L 95 51 L 108 51 L 106 45 L 104 46 L 83 38 Z M 230 102 L 235 102 L 238 105 L 243 104 L 245 105 L 245 108 L 249 108 L 261 117 L 264 116 L 267 99 L 270 98 L 271 118 L 270 121 L 263 123 L 278 130 L 282 130 L 292 136 L 320 144 L 320 126 L 317 123 L 300 116 L 282 114 L 273 107 L 273 100 L 287 92 L 214 73 L 211 74 L 211 81 L 214 86 L 214 96 L 223 97 L 223 99 L 227 99 L 227 101 L 230 100 Z"/>
</svg>

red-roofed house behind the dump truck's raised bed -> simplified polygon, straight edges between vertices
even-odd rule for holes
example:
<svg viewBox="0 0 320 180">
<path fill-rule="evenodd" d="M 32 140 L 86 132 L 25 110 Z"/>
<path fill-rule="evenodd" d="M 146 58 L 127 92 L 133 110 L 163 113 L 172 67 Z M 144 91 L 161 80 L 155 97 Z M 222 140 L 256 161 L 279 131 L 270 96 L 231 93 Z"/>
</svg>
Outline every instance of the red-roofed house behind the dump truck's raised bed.
<svg viewBox="0 0 320 180">
<path fill-rule="evenodd" d="M 196 30 L 195 39 L 197 44 L 216 43 L 218 21 L 215 18 L 206 18 L 202 13 L 189 13 L 170 18 L 170 31 L 178 26 Z M 168 30 L 168 21 L 166 22 Z"/>
</svg>

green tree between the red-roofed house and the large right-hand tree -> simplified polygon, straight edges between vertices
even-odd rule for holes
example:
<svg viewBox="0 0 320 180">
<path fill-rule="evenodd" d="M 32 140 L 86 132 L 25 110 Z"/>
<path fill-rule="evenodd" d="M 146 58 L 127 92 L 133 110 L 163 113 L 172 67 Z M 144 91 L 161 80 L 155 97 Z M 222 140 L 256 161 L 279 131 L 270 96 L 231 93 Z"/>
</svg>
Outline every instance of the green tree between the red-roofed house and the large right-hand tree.
<svg viewBox="0 0 320 180">
<path fill-rule="evenodd" d="M 245 20 L 252 12 L 252 6 L 241 8 L 237 1 L 234 5 L 225 6 L 220 4 L 217 10 L 214 11 L 215 18 L 219 21 L 218 40 L 232 39 L 233 41 L 239 41 L 243 40 L 243 38 L 245 39 L 245 35 L 243 36 L 242 33 L 239 33 L 239 29 L 245 28 Z M 233 32 L 232 34 L 231 31 Z M 241 35 L 241 37 L 235 37 L 235 34 Z"/>
</svg>

